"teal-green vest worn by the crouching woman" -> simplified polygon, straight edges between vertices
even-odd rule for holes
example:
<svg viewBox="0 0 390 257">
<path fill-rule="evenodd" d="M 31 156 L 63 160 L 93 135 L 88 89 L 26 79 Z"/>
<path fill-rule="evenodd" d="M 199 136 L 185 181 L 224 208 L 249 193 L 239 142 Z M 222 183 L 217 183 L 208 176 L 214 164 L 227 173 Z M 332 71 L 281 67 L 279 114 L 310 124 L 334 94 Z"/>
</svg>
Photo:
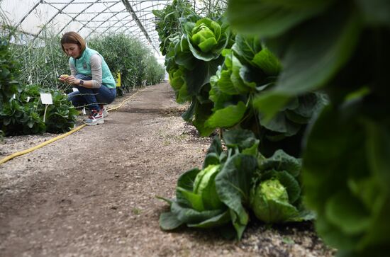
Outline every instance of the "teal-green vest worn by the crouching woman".
<svg viewBox="0 0 390 257">
<path fill-rule="evenodd" d="M 76 68 L 77 74 L 83 74 L 85 76 L 92 76 L 91 73 L 91 56 L 94 54 L 99 54 L 99 52 L 92 50 L 91 48 L 85 48 L 82 56 L 74 59 L 73 57 L 69 58 L 69 63 L 73 64 Z M 110 68 L 104 61 L 104 58 L 101 57 L 101 84 L 107 86 L 108 88 L 116 88 L 115 79 L 113 79 L 113 75 L 110 72 Z"/>
</svg>

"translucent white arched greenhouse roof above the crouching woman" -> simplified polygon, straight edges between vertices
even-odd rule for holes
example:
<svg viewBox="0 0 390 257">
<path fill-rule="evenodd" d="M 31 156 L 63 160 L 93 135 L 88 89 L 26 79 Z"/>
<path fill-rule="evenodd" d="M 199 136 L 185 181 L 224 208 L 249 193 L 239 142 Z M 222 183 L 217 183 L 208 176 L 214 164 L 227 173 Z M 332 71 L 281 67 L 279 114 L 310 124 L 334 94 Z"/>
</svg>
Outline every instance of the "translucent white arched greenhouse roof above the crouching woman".
<svg viewBox="0 0 390 257">
<path fill-rule="evenodd" d="M 76 31 L 84 38 L 125 33 L 159 52 L 154 9 L 172 0 L 0 0 L 2 18 L 18 30 L 42 37 Z M 196 5 L 196 1 L 193 1 Z"/>
</svg>

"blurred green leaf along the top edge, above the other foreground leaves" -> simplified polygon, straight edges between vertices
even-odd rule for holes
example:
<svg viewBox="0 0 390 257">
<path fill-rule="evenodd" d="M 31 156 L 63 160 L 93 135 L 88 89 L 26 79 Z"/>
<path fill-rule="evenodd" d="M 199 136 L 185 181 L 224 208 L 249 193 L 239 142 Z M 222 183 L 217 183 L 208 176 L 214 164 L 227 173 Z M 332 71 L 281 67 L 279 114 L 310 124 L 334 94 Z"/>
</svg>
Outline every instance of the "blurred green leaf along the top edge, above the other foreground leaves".
<svg viewBox="0 0 390 257">
<path fill-rule="evenodd" d="M 230 0 L 228 20 L 240 32 L 269 37 L 285 33 L 333 3 L 323 0 L 289 2 Z"/>
</svg>

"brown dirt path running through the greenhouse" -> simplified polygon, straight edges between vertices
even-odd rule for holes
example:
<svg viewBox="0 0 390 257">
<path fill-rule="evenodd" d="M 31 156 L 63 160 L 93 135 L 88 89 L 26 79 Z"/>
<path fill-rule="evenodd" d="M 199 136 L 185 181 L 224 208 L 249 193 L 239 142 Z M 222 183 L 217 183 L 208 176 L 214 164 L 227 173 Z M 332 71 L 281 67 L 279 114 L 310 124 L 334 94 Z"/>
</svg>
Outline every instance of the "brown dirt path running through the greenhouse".
<svg viewBox="0 0 390 257">
<path fill-rule="evenodd" d="M 310 224 L 274 230 L 252 222 L 239 243 L 213 231 L 162 232 L 167 205 L 155 195 L 173 197 L 179 174 L 201 166 L 210 142 L 196 137 L 183 110 L 168 84 L 151 86 L 104 125 L 0 165 L 0 256 L 333 253 Z"/>
</svg>

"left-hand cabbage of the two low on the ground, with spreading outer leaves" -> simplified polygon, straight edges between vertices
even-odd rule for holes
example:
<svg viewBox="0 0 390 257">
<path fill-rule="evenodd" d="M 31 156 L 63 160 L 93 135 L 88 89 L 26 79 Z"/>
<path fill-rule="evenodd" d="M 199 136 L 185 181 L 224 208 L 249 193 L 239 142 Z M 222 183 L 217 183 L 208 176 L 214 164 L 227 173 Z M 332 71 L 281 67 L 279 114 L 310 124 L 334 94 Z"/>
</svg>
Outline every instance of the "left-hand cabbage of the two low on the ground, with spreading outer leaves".
<svg viewBox="0 0 390 257">
<path fill-rule="evenodd" d="M 213 139 L 204 169 L 191 169 L 179 177 L 176 198 L 162 198 L 170 205 L 160 215 L 160 227 L 223 227 L 224 236 L 240 239 L 249 222 L 250 183 L 257 168 L 259 140 L 247 130 L 232 130 Z"/>
</svg>

